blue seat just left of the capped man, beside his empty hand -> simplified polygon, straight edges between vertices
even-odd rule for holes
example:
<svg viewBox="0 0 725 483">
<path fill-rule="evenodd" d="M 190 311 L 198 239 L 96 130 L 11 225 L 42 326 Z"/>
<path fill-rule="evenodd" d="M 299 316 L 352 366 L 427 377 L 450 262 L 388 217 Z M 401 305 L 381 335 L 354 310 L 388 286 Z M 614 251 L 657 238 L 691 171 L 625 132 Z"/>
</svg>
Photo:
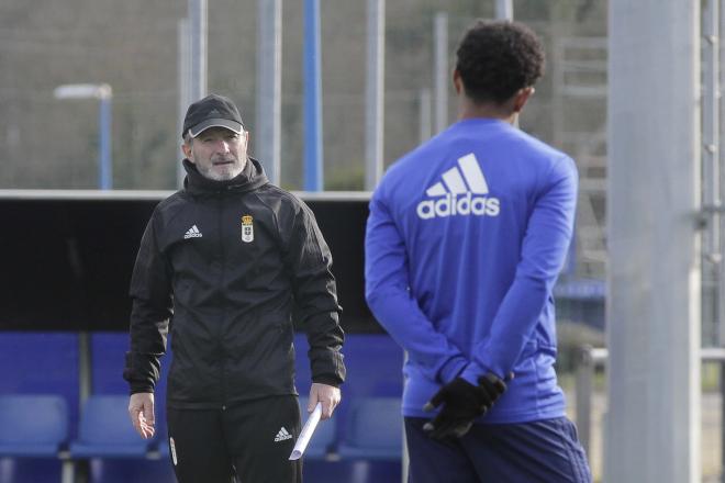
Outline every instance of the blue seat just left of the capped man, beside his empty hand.
<svg viewBox="0 0 725 483">
<path fill-rule="evenodd" d="M 129 396 L 93 395 L 80 415 L 78 439 L 70 457 L 145 458 L 153 440 L 142 439 L 129 419 Z"/>
</svg>

